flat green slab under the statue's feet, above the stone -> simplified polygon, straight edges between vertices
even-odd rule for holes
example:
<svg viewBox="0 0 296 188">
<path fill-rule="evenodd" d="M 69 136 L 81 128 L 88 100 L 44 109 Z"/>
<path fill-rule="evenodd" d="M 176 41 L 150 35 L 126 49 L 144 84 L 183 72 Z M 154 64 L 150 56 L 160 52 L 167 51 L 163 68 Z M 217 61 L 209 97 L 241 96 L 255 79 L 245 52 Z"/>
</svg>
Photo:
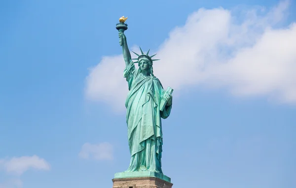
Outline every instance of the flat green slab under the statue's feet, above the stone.
<svg viewBox="0 0 296 188">
<path fill-rule="evenodd" d="M 155 177 L 159 178 L 161 180 L 167 181 L 171 183 L 171 178 L 160 174 L 158 172 L 118 172 L 115 174 L 114 178 L 115 179 L 120 179 L 120 178 L 138 178 L 138 177 Z"/>
</svg>

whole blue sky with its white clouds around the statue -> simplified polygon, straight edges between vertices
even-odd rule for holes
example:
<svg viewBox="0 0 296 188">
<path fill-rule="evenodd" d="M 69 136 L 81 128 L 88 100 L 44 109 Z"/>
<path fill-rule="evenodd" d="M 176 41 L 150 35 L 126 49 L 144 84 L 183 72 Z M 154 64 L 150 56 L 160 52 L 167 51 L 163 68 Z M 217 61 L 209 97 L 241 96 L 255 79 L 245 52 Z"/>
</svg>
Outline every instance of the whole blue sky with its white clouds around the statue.
<svg viewBox="0 0 296 188">
<path fill-rule="evenodd" d="M 0 188 L 111 187 L 127 169 L 123 15 L 130 48 L 156 52 L 155 76 L 175 89 L 162 158 L 174 188 L 296 187 L 295 9 L 1 1 Z"/>
</svg>

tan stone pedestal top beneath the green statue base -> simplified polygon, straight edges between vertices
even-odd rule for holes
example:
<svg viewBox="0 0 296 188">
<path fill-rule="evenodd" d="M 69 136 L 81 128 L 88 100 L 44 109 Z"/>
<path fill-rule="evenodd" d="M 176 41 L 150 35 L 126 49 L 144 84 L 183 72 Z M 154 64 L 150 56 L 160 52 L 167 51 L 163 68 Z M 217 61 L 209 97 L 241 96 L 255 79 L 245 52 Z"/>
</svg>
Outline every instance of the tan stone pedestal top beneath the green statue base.
<svg viewBox="0 0 296 188">
<path fill-rule="evenodd" d="M 156 177 L 114 178 L 113 188 L 172 188 L 173 184 Z"/>
</svg>

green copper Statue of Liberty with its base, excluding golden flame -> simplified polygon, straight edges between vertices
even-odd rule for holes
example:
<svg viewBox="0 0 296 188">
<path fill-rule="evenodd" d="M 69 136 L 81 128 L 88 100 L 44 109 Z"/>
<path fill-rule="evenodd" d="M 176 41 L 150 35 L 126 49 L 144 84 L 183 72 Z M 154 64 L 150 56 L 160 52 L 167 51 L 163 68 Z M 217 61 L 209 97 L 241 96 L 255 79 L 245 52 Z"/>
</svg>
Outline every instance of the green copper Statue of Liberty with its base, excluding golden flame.
<svg viewBox="0 0 296 188">
<path fill-rule="evenodd" d="M 152 59 L 155 55 L 149 56 L 149 50 L 144 54 L 140 48 L 141 54 L 135 53 L 138 58 L 131 58 L 124 34 L 127 24 L 119 23 L 116 29 L 119 31 L 119 44 L 126 65 L 123 77 L 129 89 L 125 106 L 131 161 L 129 168 L 125 172 L 117 173 L 115 177 L 152 176 L 168 181 L 169 178 L 164 176 L 161 170 L 161 119 L 170 115 L 173 90 L 168 88 L 168 91 L 165 91 L 159 79 L 154 76 L 152 65 L 153 61 L 157 60 Z M 135 63 L 138 64 L 138 69 Z"/>
</svg>

